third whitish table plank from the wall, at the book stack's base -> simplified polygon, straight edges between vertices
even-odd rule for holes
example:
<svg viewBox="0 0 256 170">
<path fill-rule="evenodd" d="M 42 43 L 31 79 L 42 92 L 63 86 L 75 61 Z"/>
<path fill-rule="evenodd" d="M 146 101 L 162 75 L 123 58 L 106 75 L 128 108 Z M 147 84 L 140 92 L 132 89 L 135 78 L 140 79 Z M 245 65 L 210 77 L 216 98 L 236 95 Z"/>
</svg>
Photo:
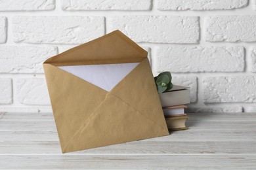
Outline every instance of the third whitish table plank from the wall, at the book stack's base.
<svg viewBox="0 0 256 170">
<path fill-rule="evenodd" d="M 56 130 L 0 131 L 2 141 L 58 141 Z M 148 141 L 256 141 L 256 129 L 247 130 L 193 130 L 172 131 L 171 135 Z"/>
</svg>

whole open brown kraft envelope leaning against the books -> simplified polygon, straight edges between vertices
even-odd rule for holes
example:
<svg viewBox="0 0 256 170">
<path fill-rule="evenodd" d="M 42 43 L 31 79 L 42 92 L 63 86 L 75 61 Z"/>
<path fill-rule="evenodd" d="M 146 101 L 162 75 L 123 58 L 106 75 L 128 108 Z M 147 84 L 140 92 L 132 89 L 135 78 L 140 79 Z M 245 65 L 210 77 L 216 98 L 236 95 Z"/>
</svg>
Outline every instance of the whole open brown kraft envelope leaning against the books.
<svg viewBox="0 0 256 170">
<path fill-rule="evenodd" d="M 169 135 L 147 52 L 120 31 L 43 68 L 63 153 Z"/>
</svg>

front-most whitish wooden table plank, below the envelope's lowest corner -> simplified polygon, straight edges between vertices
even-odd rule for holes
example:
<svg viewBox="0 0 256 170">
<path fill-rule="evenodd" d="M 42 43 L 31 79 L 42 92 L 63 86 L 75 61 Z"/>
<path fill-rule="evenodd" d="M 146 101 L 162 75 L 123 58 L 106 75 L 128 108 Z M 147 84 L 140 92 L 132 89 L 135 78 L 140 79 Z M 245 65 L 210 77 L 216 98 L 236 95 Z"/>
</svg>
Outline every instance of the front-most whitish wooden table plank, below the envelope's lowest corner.
<svg viewBox="0 0 256 170">
<path fill-rule="evenodd" d="M 255 155 L 11 155 L 2 169 L 255 169 Z"/>
</svg>

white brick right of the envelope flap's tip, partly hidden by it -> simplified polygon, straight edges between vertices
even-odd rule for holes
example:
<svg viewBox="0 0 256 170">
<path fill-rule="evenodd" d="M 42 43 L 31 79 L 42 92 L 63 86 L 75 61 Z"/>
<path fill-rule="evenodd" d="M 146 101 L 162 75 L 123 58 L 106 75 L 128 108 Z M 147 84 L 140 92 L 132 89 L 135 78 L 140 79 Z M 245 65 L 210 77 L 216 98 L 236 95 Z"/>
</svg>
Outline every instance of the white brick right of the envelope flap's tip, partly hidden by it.
<svg viewBox="0 0 256 170">
<path fill-rule="evenodd" d="M 137 42 L 198 43 L 200 27 L 197 16 L 116 16 L 116 29 Z"/>
</svg>

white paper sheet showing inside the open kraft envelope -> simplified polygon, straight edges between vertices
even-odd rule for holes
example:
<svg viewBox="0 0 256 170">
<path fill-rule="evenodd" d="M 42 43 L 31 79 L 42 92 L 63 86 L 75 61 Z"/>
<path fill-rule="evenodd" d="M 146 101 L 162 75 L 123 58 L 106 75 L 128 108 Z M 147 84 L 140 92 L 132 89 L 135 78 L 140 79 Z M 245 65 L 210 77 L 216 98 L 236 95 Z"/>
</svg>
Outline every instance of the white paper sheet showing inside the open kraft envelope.
<svg viewBox="0 0 256 170">
<path fill-rule="evenodd" d="M 139 63 L 72 65 L 60 66 L 59 68 L 110 92 L 110 90 L 138 64 Z"/>
</svg>

